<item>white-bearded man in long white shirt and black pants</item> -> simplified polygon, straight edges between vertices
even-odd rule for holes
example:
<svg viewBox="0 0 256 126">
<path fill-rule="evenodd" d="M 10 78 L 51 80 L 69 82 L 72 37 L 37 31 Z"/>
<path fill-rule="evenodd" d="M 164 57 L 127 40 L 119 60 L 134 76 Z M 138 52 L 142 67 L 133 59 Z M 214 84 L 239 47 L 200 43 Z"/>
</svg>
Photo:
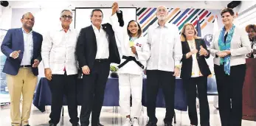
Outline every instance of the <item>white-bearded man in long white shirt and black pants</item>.
<svg viewBox="0 0 256 126">
<path fill-rule="evenodd" d="M 167 7 L 157 7 L 158 22 L 148 29 L 151 57 L 147 64 L 146 94 L 149 122 L 146 126 L 156 126 L 156 96 L 160 86 L 165 96 L 165 126 L 171 126 L 173 122 L 175 83 L 180 73 L 182 48 L 179 29 L 174 24 L 166 22 L 167 13 Z"/>
</svg>

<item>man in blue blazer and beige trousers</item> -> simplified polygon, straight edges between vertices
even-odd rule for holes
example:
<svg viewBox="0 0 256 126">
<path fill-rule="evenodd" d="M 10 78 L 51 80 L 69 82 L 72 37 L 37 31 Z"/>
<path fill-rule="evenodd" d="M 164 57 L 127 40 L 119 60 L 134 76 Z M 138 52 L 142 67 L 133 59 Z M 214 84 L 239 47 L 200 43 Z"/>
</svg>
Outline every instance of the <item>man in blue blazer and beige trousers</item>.
<svg viewBox="0 0 256 126">
<path fill-rule="evenodd" d="M 30 126 L 28 119 L 38 82 L 38 65 L 41 61 L 43 41 L 41 34 L 32 31 L 35 23 L 32 13 L 22 15 L 21 23 L 21 28 L 8 30 L 1 44 L 1 52 L 7 56 L 3 72 L 7 74 L 12 126 Z M 20 112 L 21 94 L 22 112 Z"/>
</svg>

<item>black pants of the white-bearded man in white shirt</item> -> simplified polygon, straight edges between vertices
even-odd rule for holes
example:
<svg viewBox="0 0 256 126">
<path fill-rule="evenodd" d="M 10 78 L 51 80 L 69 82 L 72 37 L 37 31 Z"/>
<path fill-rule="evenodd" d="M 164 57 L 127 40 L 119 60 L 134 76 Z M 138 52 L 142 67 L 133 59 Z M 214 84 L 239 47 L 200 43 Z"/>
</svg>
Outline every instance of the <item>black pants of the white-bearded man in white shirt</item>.
<svg viewBox="0 0 256 126">
<path fill-rule="evenodd" d="M 149 121 L 156 124 L 156 96 L 159 87 L 165 96 L 165 123 L 172 123 L 174 116 L 174 94 L 176 77 L 173 76 L 171 71 L 147 70 L 147 112 Z"/>
</svg>

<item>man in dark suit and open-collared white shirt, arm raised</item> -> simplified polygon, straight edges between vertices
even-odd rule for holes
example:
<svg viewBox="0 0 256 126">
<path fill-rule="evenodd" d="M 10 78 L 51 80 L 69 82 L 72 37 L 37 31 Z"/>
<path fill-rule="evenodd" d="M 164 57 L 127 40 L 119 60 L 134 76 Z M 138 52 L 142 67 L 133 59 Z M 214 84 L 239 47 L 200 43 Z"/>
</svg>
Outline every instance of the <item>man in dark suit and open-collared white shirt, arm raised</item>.
<svg viewBox="0 0 256 126">
<path fill-rule="evenodd" d="M 120 27 L 123 27 L 122 12 L 117 13 Z M 103 106 L 105 84 L 108 80 L 110 63 L 120 63 L 120 55 L 111 24 L 101 24 L 103 12 L 91 11 L 91 26 L 80 30 L 77 40 L 77 60 L 83 71 L 83 102 L 80 124 L 102 126 L 100 111 Z"/>
</svg>

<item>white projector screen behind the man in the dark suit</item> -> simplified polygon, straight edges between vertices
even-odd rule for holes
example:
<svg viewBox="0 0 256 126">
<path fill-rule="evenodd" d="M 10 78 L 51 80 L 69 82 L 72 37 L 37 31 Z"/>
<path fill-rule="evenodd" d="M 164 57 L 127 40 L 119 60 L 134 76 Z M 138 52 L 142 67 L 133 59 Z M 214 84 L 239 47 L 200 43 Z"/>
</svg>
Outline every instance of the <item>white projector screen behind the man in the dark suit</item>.
<svg viewBox="0 0 256 126">
<path fill-rule="evenodd" d="M 95 8 L 87 8 L 87 7 L 77 7 L 75 8 L 75 29 L 79 30 L 83 27 L 88 27 L 91 25 L 91 11 Z M 112 14 L 112 9 L 109 8 L 99 8 L 103 11 L 103 23 L 109 23 L 109 18 Z M 131 20 L 136 21 L 136 7 L 120 7 L 120 10 L 122 10 L 122 16 L 125 21 L 125 25 L 122 28 L 126 28 L 128 25 L 128 22 Z M 122 29 L 120 29 L 122 30 Z M 120 47 L 120 41 L 117 39 L 117 46 Z"/>
</svg>

